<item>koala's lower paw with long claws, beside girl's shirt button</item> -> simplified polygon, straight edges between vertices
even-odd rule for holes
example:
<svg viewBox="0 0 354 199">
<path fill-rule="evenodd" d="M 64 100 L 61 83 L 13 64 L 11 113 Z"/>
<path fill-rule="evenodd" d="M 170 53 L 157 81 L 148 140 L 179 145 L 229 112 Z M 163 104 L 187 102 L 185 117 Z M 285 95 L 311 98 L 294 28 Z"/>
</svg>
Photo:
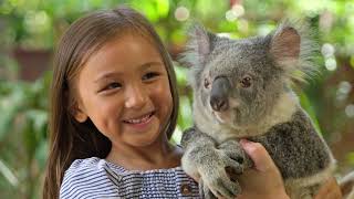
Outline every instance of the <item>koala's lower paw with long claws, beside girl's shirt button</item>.
<svg viewBox="0 0 354 199">
<path fill-rule="evenodd" d="M 236 198 L 241 193 L 241 187 L 237 180 L 231 180 L 225 169 L 211 170 L 199 180 L 199 192 L 207 199 Z"/>
</svg>

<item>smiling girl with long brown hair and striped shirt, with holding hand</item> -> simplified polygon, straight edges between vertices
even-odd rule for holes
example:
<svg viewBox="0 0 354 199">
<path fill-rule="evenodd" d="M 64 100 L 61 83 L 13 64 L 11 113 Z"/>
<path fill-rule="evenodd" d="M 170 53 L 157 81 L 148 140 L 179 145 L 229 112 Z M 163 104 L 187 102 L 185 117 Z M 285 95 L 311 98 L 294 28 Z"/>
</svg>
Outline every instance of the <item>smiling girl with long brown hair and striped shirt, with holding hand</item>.
<svg viewBox="0 0 354 199">
<path fill-rule="evenodd" d="M 51 88 L 51 148 L 43 197 L 199 198 L 168 140 L 178 96 L 170 57 L 150 23 L 129 8 L 91 13 L 64 33 Z M 287 198 L 264 148 L 242 198 Z M 264 186 L 267 185 L 267 187 Z"/>
</svg>

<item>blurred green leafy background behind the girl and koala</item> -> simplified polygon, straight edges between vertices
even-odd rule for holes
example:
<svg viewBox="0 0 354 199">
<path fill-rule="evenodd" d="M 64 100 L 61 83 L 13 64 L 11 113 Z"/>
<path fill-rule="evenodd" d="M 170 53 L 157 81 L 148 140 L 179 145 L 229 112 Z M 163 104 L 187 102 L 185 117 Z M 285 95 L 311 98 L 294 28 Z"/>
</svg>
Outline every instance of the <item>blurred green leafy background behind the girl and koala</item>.
<svg viewBox="0 0 354 199">
<path fill-rule="evenodd" d="M 321 75 L 295 90 L 339 161 L 337 177 L 354 169 L 354 0 L 0 0 L 0 198 L 41 198 L 54 46 L 83 13 L 121 3 L 149 19 L 174 60 L 191 20 L 238 39 L 264 35 L 285 17 L 306 19 L 320 43 Z M 191 125 L 186 70 L 176 63 L 176 143 Z"/>
</svg>

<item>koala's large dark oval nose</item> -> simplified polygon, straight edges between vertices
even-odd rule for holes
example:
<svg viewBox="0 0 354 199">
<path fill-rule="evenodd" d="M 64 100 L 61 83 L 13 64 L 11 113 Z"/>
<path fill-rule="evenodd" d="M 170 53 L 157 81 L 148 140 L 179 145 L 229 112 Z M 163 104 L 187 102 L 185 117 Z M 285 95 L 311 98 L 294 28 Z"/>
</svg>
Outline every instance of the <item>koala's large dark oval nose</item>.
<svg viewBox="0 0 354 199">
<path fill-rule="evenodd" d="M 216 112 L 225 112 L 229 108 L 228 93 L 230 90 L 229 80 L 225 76 L 217 77 L 211 85 L 210 105 Z"/>
</svg>

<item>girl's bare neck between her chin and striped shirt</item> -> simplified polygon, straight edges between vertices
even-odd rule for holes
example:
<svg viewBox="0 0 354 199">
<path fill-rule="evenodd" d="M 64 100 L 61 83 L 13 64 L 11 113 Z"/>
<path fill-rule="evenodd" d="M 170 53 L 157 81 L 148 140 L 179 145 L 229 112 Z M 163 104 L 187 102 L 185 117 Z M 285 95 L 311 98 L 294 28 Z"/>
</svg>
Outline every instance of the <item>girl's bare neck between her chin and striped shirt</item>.
<svg viewBox="0 0 354 199">
<path fill-rule="evenodd" d="M 169 144 L 167 139 L 144 147 L 112 144 L 106 160 L 127 170 L 153 170 L 179 166 L 181 154 L 181 149 Z"/>
</svg>

